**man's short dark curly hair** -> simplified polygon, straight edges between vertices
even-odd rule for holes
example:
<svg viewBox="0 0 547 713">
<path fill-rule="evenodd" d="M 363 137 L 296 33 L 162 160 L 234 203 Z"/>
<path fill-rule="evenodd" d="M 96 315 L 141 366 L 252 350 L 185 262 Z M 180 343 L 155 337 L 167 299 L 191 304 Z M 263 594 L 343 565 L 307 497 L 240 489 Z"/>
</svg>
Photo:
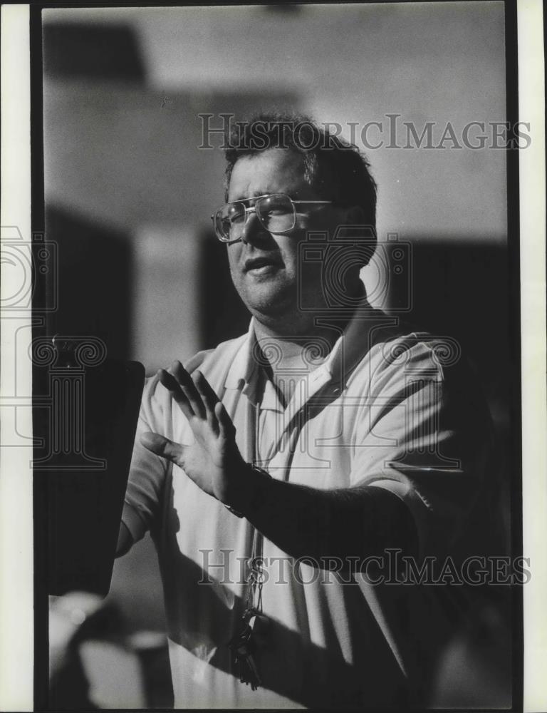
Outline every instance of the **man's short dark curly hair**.
<svg viewBox="0 0 547 713">
<path fill-rule="evenodd" d="M 224 142 L 226 201 L 236 161 L 269 148 L 287 148 L 303 155 L 304 178 L 317 195 L 336 205 L 359 206 L 365 225 L 375 230 L 376 183 L 368 160 L 357 146 L 301 114 L 261 113 L 230 125 Z"/>
</svg>

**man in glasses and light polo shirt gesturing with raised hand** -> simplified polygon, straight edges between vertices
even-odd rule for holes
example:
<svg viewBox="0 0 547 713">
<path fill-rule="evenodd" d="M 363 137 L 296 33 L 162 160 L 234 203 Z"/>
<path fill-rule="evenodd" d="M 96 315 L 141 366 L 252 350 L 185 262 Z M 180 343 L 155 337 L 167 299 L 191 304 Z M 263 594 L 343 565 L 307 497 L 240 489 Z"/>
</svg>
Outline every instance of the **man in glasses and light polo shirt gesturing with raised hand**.
<svg viewBox="0 0 547 713">
<path fill-rule="evenodd" d="M 451 386 L 457 353 L 366 300 L 358 150 L 290 116 L 229 145 L 214 225 L 249 333 L 148 382 L 119 552 L 150 529 L 176 707 L 423 703 L 450 622 L 382 567 L 472 530 L 486 409 L 468 376 Z"/>
</svg>

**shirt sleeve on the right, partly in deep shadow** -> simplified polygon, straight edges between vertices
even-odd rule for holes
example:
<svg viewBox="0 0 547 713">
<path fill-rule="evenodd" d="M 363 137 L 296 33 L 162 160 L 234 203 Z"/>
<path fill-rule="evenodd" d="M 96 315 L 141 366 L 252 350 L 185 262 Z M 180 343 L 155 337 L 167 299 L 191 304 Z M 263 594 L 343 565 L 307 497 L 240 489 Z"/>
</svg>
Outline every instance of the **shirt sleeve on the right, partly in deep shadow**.
<svg viewBox="0 0 547 713">
<path fill-rule="evenodd" d="M 350 480 L 400 497 L 420 553 L 439 553 L 462 533 L 484 488 L 491 424 L 463 361 L 443 365 L 442 350 L 417 339 L 395 347 L 377 350 Z"/>
</svg>

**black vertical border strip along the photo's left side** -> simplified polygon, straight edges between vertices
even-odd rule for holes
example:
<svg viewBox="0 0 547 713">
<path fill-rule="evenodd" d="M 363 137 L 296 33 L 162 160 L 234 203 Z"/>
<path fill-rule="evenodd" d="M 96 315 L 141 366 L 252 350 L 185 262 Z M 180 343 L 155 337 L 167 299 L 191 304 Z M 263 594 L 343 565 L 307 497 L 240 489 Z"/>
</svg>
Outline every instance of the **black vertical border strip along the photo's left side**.
<svg viewBox="0 0 547 713">
<path fill-rule="evenodd" d="M 30 89 L 31 89 L 31 231 L 35 265 L 36 237 L 44 232 L 43 195 L 43 89 L 41 6 L 30 6 Z M 56 266 L 53 267 L 53 270 Z M 47 289 L 33 275 L 32 336 L 47 333 Z M 43 394 L 43 370 L 33 364 L 33 399 Z M 33 433 L 40 434 L 43 424 L 33 409 Z M 35 451 L 36 453 L 36 446 Z M 34 710 L 48 708 L 48 596 L 47 581 L 47 483 L 43 473 L 33 473 L 33 565 L 34 565 Z"/>
</svg>

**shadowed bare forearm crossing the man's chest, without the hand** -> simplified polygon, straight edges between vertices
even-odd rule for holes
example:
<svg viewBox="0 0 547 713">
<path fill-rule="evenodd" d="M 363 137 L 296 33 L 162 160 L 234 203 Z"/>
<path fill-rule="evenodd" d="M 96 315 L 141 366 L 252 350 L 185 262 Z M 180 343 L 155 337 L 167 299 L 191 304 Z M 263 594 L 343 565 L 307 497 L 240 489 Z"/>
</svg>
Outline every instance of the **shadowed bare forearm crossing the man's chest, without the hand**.
<svg viewBox="0 0 547 713">
<path fill-rule="evenodd" d="M 350 563 L 386 548 L 415 555 L 417 533 L 405 503 L 384 488 L 318 490 L 246 468 L 230 505 L 293 557 Z"/>
</svg>

